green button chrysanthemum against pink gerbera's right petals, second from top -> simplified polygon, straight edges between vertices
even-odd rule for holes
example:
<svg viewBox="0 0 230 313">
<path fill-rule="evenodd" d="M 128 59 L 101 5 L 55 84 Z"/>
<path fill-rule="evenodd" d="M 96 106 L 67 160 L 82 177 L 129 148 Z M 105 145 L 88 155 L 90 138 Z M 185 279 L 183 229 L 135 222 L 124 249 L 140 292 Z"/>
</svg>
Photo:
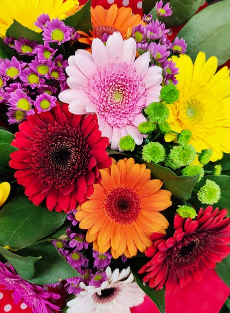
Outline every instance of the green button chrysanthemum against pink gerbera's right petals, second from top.
<svg viewBox="0 0 230 313">
<path fill-rule="evenodd" d="M 161 102 L 152 102 L 144 109 L 144 111 L 151 121 L 158 123 L 164 122 L 169 116 L 169 109 Z"/>
</svg>

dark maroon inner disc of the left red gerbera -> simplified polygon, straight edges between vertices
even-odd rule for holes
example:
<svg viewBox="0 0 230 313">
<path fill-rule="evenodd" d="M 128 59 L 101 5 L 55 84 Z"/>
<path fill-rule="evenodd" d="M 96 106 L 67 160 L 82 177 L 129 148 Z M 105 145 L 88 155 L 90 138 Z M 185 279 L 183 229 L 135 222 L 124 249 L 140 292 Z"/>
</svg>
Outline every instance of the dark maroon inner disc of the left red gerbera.
<svg viewBox="0 0 230 313">
<path fill-rule="evenodd" d="M 49 125 L 38 132 L 32 147 L 31 167 L 42 181 L 63 187 L 87 172 L 88 144 L 80 129 Z"/>
</svg>

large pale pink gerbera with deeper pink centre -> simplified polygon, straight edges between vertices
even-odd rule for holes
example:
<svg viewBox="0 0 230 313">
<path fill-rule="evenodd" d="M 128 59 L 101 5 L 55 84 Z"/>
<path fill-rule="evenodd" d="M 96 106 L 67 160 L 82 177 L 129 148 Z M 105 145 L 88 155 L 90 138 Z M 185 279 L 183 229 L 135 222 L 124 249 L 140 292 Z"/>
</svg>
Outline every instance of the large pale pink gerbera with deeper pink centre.
<svg viewBox="0 0 230 313">
<path fill-rule="evenodd" d="M 109 138 L 111 149 L 117 149 L 120 138 L 127 134 L 142 143 L 143 135 L 137 130 L 146 120 L 142 108 L 159 100 L 161 67 L 149 67 L 149 52 L 135 56 L 134 38 L 123 40 L 114 32 L 106 45 L 93 39 L 92 54 L 79 49 L 69 57 L 70 89 L 59 95 L 72 113 L 97 113 L 99 129 Z"/>
</svg>

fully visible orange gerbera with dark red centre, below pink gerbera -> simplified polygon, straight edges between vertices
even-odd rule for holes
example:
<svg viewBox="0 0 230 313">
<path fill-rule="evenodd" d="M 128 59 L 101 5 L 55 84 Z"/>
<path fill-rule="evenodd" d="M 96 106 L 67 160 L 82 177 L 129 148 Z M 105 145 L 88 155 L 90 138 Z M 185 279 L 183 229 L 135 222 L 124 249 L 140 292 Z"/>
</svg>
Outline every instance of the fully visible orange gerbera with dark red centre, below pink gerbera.
<svg viewBox="0 0 230 313">
<path fill-rule="evenodd" d="M 102 180 L 94 185 L 89 200 L 77 207 L 80 228 L 88 229 L 86 240 L 114 258 L 144 252 L 152 245 L 152 232 L 165 233 L 167 219 L 159 212 L 171 205 L 171 192 L 160 189 L 162 181 L 151 179 L 145 164 L 131 157 L 100 170 Z"/>
</svg>

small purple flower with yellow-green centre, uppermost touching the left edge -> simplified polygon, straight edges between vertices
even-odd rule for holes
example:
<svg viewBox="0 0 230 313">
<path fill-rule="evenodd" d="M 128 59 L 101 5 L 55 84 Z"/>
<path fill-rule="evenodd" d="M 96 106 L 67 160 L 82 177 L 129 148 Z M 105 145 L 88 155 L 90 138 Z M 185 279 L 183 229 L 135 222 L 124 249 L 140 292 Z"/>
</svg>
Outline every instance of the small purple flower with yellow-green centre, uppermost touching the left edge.
<svg viewBox="0 0 230 313">
<path fill-rule="evenodd" d="M 17 60 L 15 56 L 11 60 L 6 58 L 0 62 L 0 74 L 4 76 L 6 80 L 15 79 L 19 77 L 25 63 Z"/>
</svg>

